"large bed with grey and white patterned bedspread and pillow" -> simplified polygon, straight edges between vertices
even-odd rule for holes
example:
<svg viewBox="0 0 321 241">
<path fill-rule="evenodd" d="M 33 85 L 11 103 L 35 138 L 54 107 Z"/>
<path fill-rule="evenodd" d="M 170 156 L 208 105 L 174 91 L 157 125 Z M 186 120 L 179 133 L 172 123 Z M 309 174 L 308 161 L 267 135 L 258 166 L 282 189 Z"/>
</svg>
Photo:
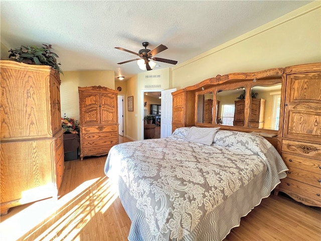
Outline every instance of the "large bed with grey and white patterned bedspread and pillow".
<svg viewBox="0 0 321 241">
<path fill-rule="evenodd" d="M 135 241 L 222 240 L 287 170 L 263 137 L 196 127 L 116 145 L 105 163 Z"/>
</svg>

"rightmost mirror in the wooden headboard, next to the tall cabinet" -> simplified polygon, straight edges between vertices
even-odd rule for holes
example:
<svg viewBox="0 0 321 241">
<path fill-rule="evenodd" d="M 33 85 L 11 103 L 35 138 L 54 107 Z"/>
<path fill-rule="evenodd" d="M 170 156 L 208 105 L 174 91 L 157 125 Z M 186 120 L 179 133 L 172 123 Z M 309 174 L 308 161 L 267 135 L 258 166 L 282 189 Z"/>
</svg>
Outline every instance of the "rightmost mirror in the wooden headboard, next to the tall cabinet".
<svg viewBox="0 0 321 241">
<path fill-rule="evenodd" d="M 249 127 L 278 130 L 281 84 L 251 88 Z"/>
</svg>

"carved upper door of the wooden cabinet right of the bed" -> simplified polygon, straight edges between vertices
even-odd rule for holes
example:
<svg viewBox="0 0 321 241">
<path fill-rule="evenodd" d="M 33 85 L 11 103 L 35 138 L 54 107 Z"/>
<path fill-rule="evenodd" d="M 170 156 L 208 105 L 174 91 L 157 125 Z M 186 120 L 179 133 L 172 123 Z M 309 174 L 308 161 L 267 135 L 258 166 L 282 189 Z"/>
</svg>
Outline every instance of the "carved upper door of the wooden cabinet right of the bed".
<svg viewBox="0 0 321 241">
<path fill-rule="evenodd" d="M 321 133 L 321 74 L 290 74 L 286 82 L 283 137 L 319 141 Z"/>
</svg>

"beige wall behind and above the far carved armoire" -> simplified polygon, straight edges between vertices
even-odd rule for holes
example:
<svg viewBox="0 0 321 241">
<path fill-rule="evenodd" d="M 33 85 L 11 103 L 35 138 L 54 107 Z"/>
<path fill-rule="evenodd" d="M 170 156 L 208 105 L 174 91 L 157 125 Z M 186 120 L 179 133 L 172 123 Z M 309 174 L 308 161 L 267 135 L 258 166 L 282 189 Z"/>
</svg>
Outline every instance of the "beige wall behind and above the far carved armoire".
<svg viewBox="0 0 321 241">
<path fill-rule="evenodd" d="M 115 89 L 114 71 L 66 71 L 60 75 L 61 114 L 79 120 L 78 86 L 101 85 Z"/>
</svg>

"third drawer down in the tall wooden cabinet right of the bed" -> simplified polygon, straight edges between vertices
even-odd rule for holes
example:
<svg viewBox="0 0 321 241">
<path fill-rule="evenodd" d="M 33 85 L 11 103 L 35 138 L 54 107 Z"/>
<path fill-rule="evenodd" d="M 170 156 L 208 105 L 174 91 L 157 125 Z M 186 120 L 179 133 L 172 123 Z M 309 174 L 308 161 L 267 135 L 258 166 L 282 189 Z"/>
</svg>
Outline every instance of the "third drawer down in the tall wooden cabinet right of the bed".
<svg viewBox="0 0 321 241">
<path fill-rule="evenodd" d="M 307 172 L 302 169 L 288 167 L 288 171 L 286 171 L 286 177 L 290 179 L 297 180 L 299 182 L 303 182 L 318 188 L 321 188 L 321 175 L 313 172 Z"/>
</svg>

